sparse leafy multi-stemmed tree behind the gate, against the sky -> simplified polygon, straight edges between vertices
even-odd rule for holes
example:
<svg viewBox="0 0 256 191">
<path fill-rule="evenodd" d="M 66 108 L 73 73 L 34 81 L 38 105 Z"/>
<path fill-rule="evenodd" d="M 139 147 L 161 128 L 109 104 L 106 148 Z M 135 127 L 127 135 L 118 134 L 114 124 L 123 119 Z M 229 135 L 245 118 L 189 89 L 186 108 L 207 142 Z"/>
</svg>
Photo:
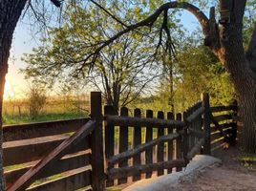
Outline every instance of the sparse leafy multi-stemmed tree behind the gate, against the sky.
<svg viewBox="0 0 256 191">
<path fill-rule="evenodd" d="M 128 17 L 125 12 L 123 16 Z M 120 26 L 105 14 L 98 14 L 95 7 L 84 10 L 75 6 L 75 11 L 67 11 L 63 20 L 61 28 L 53 28 L 49 37 L 42 39 L 45 45 L 24 56 L 28 65 L 23 72 L 27 77 L 48 85 L 55 81 L 71 86 L 77 81 L 91 85 L 102 92 L 116 113 L 158 77 L 154 40 L 131 32 L 102 50 L 90 68 L 83 63 L 86 53 L 91 52 L 92 45 L 116 33 Z"/>
</svg>

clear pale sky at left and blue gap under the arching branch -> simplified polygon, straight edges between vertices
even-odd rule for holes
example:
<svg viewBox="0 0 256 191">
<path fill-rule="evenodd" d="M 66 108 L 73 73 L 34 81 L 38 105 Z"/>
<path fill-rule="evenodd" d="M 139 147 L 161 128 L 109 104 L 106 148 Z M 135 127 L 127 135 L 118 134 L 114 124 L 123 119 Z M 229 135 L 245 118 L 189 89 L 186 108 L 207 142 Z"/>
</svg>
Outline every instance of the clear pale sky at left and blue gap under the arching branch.
<svg viewBox="0 0 256 191">
<path fill-rule="evenodd" d="M 29 22 L 19 22 L 13 35 L 4 99 L 23 98 L 28 91 L 28 81 L 20 73 L 20 69 L 26 68 L 21 57 L 24 53 L 32 53 L 32 48 L 38 46 L 38 39 L 32 37 L 32 27 L 25 23 Z M 198 27 L 197 20 L 186 11 L 181 14 L 181 24 L 188 31 Z"/>
</svg>

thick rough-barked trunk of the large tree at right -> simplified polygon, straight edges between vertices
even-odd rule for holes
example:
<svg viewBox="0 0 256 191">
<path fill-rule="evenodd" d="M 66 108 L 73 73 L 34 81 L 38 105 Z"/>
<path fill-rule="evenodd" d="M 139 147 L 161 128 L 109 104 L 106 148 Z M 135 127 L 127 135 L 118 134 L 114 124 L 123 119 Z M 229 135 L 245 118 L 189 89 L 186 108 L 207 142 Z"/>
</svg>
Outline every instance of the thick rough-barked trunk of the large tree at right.
<svg viewBox="0 0 256 191">
<path fill-rule="evenodd" d="M 220 48 L 215 53 L 230 74 L 238 96 L 240 116 L 244 123 L 242 147 L 246 153 L 256 153 L 256 81 L 245 55 L 242 33 L 245 2 L 235 0 L 230 7 L 230 23 L 221 26 Z"/>
</svg>

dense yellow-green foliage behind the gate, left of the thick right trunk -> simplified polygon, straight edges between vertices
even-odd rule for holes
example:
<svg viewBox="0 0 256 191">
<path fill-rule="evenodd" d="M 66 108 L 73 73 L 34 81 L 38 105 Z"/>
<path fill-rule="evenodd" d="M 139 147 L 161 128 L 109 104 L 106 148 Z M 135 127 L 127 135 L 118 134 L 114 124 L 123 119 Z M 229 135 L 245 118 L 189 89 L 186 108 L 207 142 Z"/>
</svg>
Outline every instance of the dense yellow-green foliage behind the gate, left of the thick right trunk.
<svg viewBox="0 0 256 191">
<path fill-rule="evenodd" d="M 165 67 L 158 92 L 141 97 L 131 107 L 164 112 L 174 107 L 174 112 L 178 113 L 200 100 L 203 92 L 209 93 L 211 105 L 227 105 L 233 101 L 234 87 L 217 57 L 195 38 L 183 41 L 187 43 L 180 46 L 176 59 L 172 60 L 173 83 L 170 69 Z M 173 86 L 173 93 L 170 86 Z"/>
</svg>

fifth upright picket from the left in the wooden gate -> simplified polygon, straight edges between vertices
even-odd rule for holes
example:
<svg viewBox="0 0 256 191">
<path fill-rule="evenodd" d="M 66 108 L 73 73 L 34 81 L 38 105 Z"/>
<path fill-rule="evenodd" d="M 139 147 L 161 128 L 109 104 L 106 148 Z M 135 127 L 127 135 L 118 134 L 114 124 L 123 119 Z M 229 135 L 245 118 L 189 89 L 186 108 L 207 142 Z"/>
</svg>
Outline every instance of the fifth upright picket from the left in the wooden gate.
<svg viewBox="0 0 256 191">
<path fill-rule="evenodd" d="M 158 112 L 158 118 L 160 119 L 164 119 L 164 114 L 163 112 Z M 158 138 L 162 137 L 164 135 L 164 129 L 163 128 L 159 128 L 158 129 Z M 157 157 L 158 157 L 158 162 L 161 162 L 164 160 L 164 144 L 162 142 L 160 142 L 158 144 L 158 153 L 157 153 Z M 163 175 L 164 171 L 163 169 L 159 169 L 158 170 L 158 176 Z"/>
</svg>

